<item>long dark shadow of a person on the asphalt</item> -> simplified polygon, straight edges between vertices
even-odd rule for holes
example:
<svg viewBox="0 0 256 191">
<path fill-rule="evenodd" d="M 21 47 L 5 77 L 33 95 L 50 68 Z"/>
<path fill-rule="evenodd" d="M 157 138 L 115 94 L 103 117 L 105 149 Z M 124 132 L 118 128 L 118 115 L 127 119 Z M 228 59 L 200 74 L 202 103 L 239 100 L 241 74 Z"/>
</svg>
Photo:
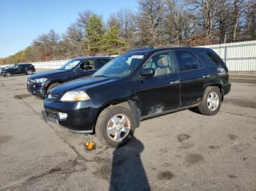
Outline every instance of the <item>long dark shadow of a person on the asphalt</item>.
<svg viewBox="0 0 256 191">
<path fill-rule="evenodd" d="M 143 144 L 135 137 L 124 147 L 113 151 L 110 191 L 150 190 L 146 172 L 140 159 Z"/>
</svg>

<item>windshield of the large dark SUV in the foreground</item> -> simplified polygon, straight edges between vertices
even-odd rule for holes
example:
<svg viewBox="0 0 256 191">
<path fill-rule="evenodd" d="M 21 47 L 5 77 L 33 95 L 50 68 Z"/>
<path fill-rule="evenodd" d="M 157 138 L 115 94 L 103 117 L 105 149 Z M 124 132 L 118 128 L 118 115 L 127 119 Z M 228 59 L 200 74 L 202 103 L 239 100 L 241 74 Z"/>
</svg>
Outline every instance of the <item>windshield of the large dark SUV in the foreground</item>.
<svg viewBox="0 0 256 191">
<path fill-rule="evenodd" d="M 141 52 L 119 55 L 95 72 L 93 76 L 127 77 L 140 65 L 144 56 L 145 53 Z"/>
</svg>

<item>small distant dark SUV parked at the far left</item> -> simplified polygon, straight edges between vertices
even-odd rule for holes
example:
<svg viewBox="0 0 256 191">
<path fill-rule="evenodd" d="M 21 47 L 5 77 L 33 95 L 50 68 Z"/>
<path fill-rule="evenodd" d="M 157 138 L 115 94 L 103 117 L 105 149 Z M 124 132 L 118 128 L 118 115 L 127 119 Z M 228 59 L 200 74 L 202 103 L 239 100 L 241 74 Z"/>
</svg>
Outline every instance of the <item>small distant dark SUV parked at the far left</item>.
<svg viewBox="0 0 256 191">
<path fill-rule="evenodd" d="M 34 69 L 34 66 L 31 63 L 20 63 L 20 64 L 14 64 L 7 68 L 1 69 L 1 74 L 4 77 L 11 77 L 14 74 L 31 75 L 35 71 L 36 70 Z"/>
</svg>

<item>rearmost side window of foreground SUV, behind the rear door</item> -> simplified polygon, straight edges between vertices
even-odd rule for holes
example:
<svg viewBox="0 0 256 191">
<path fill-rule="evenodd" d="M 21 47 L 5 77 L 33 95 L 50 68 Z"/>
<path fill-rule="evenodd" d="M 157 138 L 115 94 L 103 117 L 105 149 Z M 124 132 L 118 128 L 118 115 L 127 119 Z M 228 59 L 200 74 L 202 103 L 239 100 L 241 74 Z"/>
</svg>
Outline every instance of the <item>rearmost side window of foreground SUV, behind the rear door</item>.
<svg viewBox="0 0 256 191">
<path fill-rule="evenodd" d="M 213 50 L 208 50 L 208 49 L 201 49 L 197 51 L 201 56 L 203 56 L 204 59 L 208 63 L 211 63 L 212 65 L 215 66 L 223 66 L 224 62 L 222 61 L 222 58 L 219 58 L 219 55 L 215 53 Z"/>
</svg>

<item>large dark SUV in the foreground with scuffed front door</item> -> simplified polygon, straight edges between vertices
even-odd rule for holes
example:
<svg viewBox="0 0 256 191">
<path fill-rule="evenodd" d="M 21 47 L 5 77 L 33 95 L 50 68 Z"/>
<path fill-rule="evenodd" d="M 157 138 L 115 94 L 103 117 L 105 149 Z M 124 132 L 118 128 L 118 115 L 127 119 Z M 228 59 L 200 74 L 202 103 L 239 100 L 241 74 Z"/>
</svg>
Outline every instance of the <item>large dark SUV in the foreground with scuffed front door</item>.
<svg viewBox="0 0 256 191">
<path fill-rule="evenodd" d="M 230 87 L 227 67 L 211 49 L 135 50 L 91 77 L 51 90 L 42 116 L 73 133 L 95 132 L 103 144 L 118 147 L 142 119 L 192 107 L 217 114 Z"/>
</svg>

